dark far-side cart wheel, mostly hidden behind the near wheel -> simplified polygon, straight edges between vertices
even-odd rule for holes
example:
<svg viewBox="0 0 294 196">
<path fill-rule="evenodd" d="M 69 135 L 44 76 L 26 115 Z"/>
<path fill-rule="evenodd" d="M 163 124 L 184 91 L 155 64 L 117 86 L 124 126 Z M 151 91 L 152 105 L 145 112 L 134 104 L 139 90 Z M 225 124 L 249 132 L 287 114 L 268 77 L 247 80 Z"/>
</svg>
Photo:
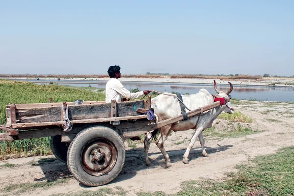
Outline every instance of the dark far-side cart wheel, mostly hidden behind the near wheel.
<svg viewBox="0 0 294 196">
<path fill-rule="evenodd" d="M 65 142 L 61 142 L 60 135 L 55 135 L 51 137 L 51 150 L 54 156 L 63 163 L 66 163 L 68 148 L 69 148 L 69 144 Z"/>
</svg>

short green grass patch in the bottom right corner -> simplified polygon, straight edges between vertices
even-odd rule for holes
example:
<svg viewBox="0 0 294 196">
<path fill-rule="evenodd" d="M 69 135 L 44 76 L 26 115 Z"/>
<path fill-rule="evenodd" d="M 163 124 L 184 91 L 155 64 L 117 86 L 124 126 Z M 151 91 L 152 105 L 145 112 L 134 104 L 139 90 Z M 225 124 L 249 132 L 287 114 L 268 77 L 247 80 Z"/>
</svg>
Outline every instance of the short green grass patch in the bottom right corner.
<svg viewBox="0 0 294 196">
<path fill-rule="evenodd" d="M 275 154 L 259 156 L 251 164 L 238 165 L 237 173 L 228 173 L 222 182 L 186 181 L 173 196 L 293 196 L 294 147 Z M 138 196 L 172 196 L 164 192 L 138 193 Z"/>
</svg>

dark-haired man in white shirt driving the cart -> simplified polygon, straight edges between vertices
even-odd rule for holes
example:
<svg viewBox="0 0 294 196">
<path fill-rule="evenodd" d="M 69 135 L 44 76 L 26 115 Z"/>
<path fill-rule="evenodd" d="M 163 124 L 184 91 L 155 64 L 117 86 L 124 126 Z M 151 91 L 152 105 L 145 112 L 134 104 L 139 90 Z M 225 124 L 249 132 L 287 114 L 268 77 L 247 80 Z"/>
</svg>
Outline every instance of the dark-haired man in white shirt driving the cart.
<svg viewBox="0 0 294 196">
<path fill-rule="evenodd" d="M 110 103 L 112 100 L 117 102 L 126 101 L 127 98 L 139 98 L 143 95 L 149 94 L 151 91 L 145 90 L 137 93 L 131 93 L 128 91 L 123 84 L 118 80 L 121 78 L 121 68 L 118 65 L 110 66 L 108 69 L 108 75 L 110 80 L 106 84 L 106 103 Z M 122 99 L 121 95 L 125 98 Z"/>
</svg>

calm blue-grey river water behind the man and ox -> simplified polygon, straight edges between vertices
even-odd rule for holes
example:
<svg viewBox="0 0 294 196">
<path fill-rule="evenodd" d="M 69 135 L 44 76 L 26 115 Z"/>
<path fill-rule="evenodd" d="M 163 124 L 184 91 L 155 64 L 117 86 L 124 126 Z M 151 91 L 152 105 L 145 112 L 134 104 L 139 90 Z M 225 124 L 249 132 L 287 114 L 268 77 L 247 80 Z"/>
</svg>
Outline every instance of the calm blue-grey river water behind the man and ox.
<svg viewBox="0 0 294 196">
<path fill-rule="evenodd" d="M 18 80 L 20 81 L 20 80 Z M 49 84 L 52 81 L 59 85 L 70 85 L 70 86 L 84 86 L 88 87 L 91 85 L 96 88 L 105 88 L 106 81 L 85 81 L 85 80 L 71 80 L 69 83 L 58 83 L 67 82 L 56 81 L 56 80 L 39 80 L 45 83 L 38 83 L 37 80 L 21 80 L 27 82 L 34 82 L 37 84 Z M 125 88 L 128 90 L 139 88 L 139 90 L 156 90 L 160 92 L 179 92 L 181 94 L 189 93 L 195 94 L 200 89 L 204 88 L 210 93 L 215 94 L 213 85 L 208 84 L 182 84 L 182 83 L 151 83 L 151 82 L 124 82 L 122 81 Z M 230 85 L 218 85 L 219 90 L 228 90 Z M 263 86 L 234 86 L 234 90 L 230 94 L 232 98 L 247 99 L 247 100 L 261 100 L 261 101 L 282 101 L 282 102 L 294 102 L 294 88 L 290 87 L 263 87 Z"/>
</svg>

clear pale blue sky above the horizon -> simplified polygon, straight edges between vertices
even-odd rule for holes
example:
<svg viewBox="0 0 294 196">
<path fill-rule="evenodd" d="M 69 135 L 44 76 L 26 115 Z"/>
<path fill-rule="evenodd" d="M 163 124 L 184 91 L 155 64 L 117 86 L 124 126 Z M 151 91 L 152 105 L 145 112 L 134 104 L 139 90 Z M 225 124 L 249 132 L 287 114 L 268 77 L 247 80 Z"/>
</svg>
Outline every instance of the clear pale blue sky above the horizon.
<svg viewBox="0 0 294 196">
<path fill-rule="evenodd" d="M 0 0 L 0 73 L 294 75 L 294 0 Z"/>
</svg>

